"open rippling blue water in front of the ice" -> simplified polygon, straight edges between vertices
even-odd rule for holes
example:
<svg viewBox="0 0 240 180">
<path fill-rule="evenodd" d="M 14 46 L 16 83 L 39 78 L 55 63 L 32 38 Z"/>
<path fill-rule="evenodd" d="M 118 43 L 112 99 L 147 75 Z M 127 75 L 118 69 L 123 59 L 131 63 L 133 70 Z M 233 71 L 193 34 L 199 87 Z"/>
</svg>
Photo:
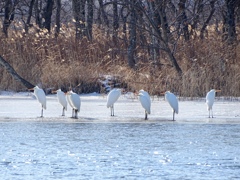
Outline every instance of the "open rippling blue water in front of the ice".
<svg viewBox="0 0 240 180">
<path fill-rule="evenodd" d="M 239 124 L 0 123 L 1 179 L 239 179 Z"/>
</svg>

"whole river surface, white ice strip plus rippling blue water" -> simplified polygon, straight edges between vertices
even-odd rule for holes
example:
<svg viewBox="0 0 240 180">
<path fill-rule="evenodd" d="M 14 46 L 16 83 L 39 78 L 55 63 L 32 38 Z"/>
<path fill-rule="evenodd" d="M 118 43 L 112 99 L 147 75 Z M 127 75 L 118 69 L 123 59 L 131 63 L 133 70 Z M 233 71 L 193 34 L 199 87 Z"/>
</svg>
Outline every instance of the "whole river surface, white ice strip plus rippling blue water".
<svg viewBox="0 0 240 180">
<path fill-rule="evenodd" d="M 79 119 L 31 95 L 0 95 L 0 179 L 240 179 L 240 103 L 180 101 L 176 121 L 163 100 L 145 121 L 137 100 L 81 96 Z"/>
</svg>

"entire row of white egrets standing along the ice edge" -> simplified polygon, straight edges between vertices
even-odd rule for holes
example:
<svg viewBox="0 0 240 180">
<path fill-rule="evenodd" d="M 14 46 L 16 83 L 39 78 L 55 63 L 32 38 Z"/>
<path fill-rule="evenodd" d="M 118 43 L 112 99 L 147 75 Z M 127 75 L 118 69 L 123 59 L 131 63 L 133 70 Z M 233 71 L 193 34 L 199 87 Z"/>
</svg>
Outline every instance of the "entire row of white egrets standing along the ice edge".
<svg viewBox="0 0 240 180">
<path fill-rule="evenodd" d="M 46 95 L 44 91 L 38 86 L 35 86 L 30 90 L 34 90 L 34 95 L 36 96 L 38 102 L 42 106 L 41 117 L 43 117 L 43 109 L 46 109 Z M 212 106 L 215 99 L 215 93 L 219 91 L 220 90 L 212 89 L 206 95 L 206 104 L 207 104 L 207 109 L 209 111 L 209 118 L 210 118 L 210 111 L 212 111 Z M 67 110 L 67 104 L 69 104 L 72 107 L 72 118 L 77 119 L 78 112 L 80 112 L 80 107 L 81 107 L 81 99 L 79 95 L 74 93 L 72 90 L 68 91 L 67 93 L 62 92 L 61 89 L 58 89 L 57 91 L 52 91 L 52 92 L 57 93 L 58 102 L 63 107 L 62 116 L 65 116 L 65 111 Z M 167 102 L 172 108 L 173 121 L 174 121 L 175 113 L 178 114 L 178 99 L 170 91 L 166 91 L 161 94 L 165 95 L 165 99 L 167 100 Z M 115 89 L 115 88 L 112 89 L 107 95 L 107 108 L 110 107 L 111 116 L 114 116 L 114 103 L 118 100 L 120 96 L 121 96 L 121 89 Z M 147 120 L 148 114 L 151 113 L 150 95 L 148 94 L 148 92 L 144 90 L 140 90 L 138 93 L 138 99 L 142 107 L 144 108 L 145 120 Z M 213 118 L 213 111 L 212 111 L 212 118 Z"/>
</svg>

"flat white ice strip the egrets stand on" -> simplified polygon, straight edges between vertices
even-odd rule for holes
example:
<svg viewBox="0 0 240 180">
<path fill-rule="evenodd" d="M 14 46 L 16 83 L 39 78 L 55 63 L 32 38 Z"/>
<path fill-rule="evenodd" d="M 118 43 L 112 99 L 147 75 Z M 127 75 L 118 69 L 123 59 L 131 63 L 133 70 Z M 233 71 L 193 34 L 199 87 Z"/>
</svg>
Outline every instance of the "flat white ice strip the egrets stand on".
<svg viewBox="0 0 240 180">
<path fill-rule="evenodd" d="M 46 121 L 46 122 L 134 122 L 173 123 L 172 110 L 163 97 L 152 99 L 151 114 L 144 120 L 144 110 L 133 94 L 122 95 L 115 103 L 115 116 L 110 116 L 106 107 L 106 95 L 97 93 L 80 95 L 81 110 L 78 119 L 70 118 L 72 111 L 68 105 L 66 116 L 62 117 L 62 107 L 56 95 L 47 95 L 47 110 L 40 118 L 41 105 L 32 93 L 0 93 L 0 121 Z M 200 100 L 180 100 L 179 114 L 174 123 L 240 123 L 240 102 L 216 99 L 213 105 L 214 118 L 208 118 L 204 98 Z"/>
</svg>

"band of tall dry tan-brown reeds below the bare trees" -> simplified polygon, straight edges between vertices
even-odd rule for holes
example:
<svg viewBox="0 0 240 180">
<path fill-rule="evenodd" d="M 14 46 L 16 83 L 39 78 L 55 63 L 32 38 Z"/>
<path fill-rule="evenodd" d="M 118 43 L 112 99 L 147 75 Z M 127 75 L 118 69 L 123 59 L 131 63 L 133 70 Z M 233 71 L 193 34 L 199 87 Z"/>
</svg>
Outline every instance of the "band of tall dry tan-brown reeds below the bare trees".
<svg viewBox="0 0 240 180">
<path fill-rule="evenodd" d="M 196 97 L 216 88 L 222 90 L 221 95 L 240 96 L 240 46 L 230 48 L 215 33 L 204 40 L 179 40 L 175 54 L 183 70 L 179 77 L 164 52 L 160 65 L 154 65 L 140 48 L 137 68 L 130 69 L 125 42 L 119 41 L 116 48 L 109 35 L 97 28 L 93 32 L 94 39 L 89 42 L 77 41 L 71 26 L 62 27 L 58 38 L 37 28 L 28 34 L 10 30 L 9 38 L 0 34 L 0 54 L 23 78 L 43 88 L 100 91 L 99 79 L 112 75 L 127 90 L 145 89 L 152 95 L 171 90 Z M 0 77 L 1 90 L 25 90 L 1 67 Z"/>
</svg>

